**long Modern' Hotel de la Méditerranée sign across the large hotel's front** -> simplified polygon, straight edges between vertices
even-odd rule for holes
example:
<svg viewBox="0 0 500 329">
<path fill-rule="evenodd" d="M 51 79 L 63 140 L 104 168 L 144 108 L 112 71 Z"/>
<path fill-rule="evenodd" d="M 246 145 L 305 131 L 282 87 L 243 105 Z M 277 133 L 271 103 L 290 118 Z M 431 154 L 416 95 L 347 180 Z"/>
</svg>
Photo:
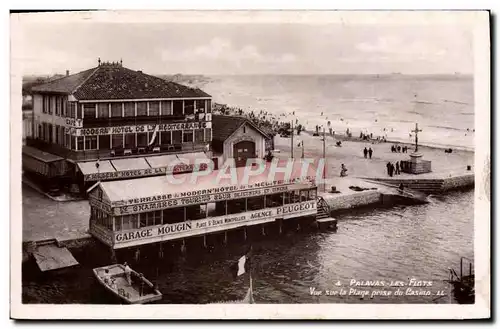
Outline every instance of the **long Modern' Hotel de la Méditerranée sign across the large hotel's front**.
<svg viewBox="0 0 500 329">
<path fill-rule="evenodd" d="M 113 134 L 128 134 L 128 133 L 146 133 L 158 131 L 174 131 L 174 130 L 188 130 L 188 129 L 204 129 L 211 128 L 211 122 L 177 122 L 165 124 L 144 124 L 133 126 L 116 126 L 116 127 L 96 127 L 96 128 L 78 128 L 69 129 L 68 131 L 75 136 L 101 136 Z"/>
</svg>

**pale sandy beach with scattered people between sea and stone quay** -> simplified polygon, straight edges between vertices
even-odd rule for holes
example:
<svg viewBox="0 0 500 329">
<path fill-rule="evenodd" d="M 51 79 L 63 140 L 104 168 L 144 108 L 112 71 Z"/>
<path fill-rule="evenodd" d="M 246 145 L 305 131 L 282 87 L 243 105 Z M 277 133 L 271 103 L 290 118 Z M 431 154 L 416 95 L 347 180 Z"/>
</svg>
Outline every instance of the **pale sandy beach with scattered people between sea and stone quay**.
<svg viewBox="0 0 500 329">
<path fill-rule="evenodd" d="M 302 141 L 304 142 L 304 156 L 306 158 L 323 157 L 322 136 L 315 137 L 309 133 L 301 133 L 299 136 L 295 135 L 293 140 L 294 157 L 301 157 L 302 148 L 298 144 Z M 342 147 L 336 146 L 337 140 L 342 140 Z M 290 157 L 291 138 L 276 136 L 274 141 L 275 149 L 280 151 L 275 155 L 280 158 Z M 372 142 L 361 141 L 359 138 L 346 139 L 345 136 L 334 138 L 327 135 L 326 176 L 329 178 L 339 177 L 341 164 L 345 164 L 351 177 L 386 177 L 387 162 L 408 160 L 414 147 L 411 145 L 408 153 L 392 153 L 391 145 L 390 142 L 372 144 Z M 365 147 L 372 148 L 372 159 L 364 158 L 363 149 Z M 453 153 L 449 154 L 444 153 L 444 149 L 419 146 L 419 153 L 423 154 L 423 159 L 432 161 L 432 171 L 435 173 L 465 171 L 468 165 L 474 167 L 474 152 L 453 150 Z"/>
</svg>

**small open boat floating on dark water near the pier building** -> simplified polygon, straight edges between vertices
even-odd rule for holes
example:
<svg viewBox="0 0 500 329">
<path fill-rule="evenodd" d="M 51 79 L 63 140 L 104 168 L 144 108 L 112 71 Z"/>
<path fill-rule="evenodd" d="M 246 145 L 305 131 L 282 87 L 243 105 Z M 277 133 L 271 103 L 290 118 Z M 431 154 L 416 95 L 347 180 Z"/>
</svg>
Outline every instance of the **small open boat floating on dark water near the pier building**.
<svg viewBox="0 0 500 329">
<path fill-rule="evenodd" d="M 161 292 L 142 274 L 131 270 L 130 285 L 125 266 L 113 264 L 94 268 L 94 275 L 104 288 L 128 304 L 150 303 L 162 298 Z"/>
</svg>

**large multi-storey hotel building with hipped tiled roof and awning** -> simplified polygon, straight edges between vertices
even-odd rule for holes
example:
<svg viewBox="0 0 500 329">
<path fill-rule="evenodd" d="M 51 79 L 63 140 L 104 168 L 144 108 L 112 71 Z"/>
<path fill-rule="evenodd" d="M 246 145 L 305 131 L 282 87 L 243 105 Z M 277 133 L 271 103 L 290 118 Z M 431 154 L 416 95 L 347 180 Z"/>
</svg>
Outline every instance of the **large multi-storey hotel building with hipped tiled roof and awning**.
<svg viewBox="0 0 500 329">
<path fill-rule="evenodd" d="M 31 90 L 27 144 L 63 158 L 59 176 L 76 179 L 81 188 L 95 180 L 162 174 L 171 154 L 210 157 L 211 96 L 199 89 L 99 60 L 95 68 Z M 31 153 L 23 150 L 23 156 Z M 43 172 L 25 163 L 25 172 Z"/>
</svg>

